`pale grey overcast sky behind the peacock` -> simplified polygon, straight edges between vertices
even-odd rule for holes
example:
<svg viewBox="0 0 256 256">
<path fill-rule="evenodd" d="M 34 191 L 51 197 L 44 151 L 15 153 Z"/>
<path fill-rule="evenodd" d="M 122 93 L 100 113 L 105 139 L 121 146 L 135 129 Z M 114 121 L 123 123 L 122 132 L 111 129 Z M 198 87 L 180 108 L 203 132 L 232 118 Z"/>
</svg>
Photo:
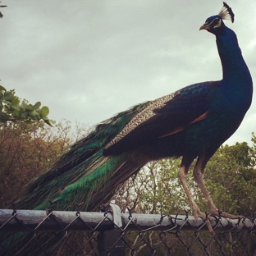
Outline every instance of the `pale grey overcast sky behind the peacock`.
<svg viewBox="0 0 256 256">
<path fill-rule="evenodd" d="M 227 2 L 256 81 L 256 4 Z M 94 126 L 186 85 L 221 80 L 215 38 L 200 31 L 222 1 L 2 0 L 0 79 L 49 118 Z M 250 141 L 256 103 L 227 142 Z"/>
</svg>

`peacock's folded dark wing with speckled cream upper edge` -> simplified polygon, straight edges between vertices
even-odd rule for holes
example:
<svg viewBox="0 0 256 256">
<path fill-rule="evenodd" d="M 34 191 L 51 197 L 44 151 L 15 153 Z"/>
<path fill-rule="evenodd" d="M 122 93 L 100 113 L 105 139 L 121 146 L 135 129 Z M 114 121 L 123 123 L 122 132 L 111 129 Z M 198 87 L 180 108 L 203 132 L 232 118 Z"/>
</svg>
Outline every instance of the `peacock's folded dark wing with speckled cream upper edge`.
<svg viewBox="0 0 256 256">
<path fill-rule="evenodd" d="M 147 103 L 107 144 L 104 154 L 119 154 L 149 144 L 154 139 L 176 134 L 207 117 L 217 81 L 187 86 Z"/>
</svg>

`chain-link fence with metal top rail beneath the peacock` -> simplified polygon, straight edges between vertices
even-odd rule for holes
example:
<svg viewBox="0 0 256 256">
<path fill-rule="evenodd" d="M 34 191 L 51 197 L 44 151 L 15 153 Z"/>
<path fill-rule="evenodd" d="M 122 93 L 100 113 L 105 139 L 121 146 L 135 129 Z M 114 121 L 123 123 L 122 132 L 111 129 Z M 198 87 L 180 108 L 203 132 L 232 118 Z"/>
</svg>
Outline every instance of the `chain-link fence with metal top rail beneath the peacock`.
<svg viewBox="0 0 256 256">
<path fill-rule="evenodd" d="M 254 219 L 169 214 L 0 210 L 0 255 L 256 255 Z"/>
</svg>

